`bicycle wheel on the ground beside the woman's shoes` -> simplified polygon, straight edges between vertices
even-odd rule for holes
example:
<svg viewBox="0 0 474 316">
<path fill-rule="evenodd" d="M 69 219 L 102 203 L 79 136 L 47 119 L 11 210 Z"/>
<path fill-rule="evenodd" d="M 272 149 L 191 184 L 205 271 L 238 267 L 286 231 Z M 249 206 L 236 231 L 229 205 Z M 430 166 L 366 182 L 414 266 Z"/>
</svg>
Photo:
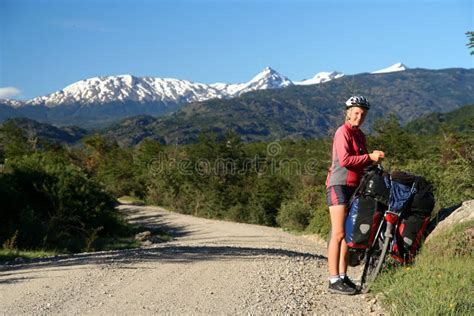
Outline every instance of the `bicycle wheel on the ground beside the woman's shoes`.
<svg viewBox="0 0 474 316">
<path fill-rule="evenodd" d="M 380 248 L 372 247 L 369 249 L 365 259 L 364 271 L 361 277 L 361 292 L 367 293 L 370 290 L 372 282 L 382 269 L 382 265 L 387 255 L 388 247 L 390 246 L 392 238 L 385 237 Z M 378 248 L 378 249 L 377 249 Z"/>
</svg>

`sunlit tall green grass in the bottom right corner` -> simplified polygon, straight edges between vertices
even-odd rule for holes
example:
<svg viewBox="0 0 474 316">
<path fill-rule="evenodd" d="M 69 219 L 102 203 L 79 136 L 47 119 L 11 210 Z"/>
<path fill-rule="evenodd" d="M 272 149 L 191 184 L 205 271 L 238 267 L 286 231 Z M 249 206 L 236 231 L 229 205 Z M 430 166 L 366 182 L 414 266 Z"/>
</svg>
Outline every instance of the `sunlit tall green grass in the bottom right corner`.
<svg viewBox="0 0 474 316">
<path fill-rule="evenodd" d="M 474 314 L 474 221 L 434 236 L 411 266 L 390 269 L 376 279 L 394 315 Z"/>
</svg>

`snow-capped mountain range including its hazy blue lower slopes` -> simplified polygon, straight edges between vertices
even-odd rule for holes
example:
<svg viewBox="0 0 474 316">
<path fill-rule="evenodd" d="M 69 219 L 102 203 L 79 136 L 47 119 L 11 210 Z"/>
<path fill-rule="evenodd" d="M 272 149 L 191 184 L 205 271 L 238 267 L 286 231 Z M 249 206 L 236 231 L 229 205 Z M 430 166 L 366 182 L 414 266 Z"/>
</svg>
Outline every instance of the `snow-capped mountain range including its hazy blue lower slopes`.
<svg viewBox="0 0 474 316">
<path fill-rule="evenodd" d="M 375 73 L 405 68 L 402 63 L 397 63 Z M 343 76 L 336 71 L 319 72 L 311 79 L 293 82 L 266 67 L 248 82 L 231 84 L 131 75 L 94 77 L 30 100 L 0 99 L 0 122 L 9 117 L 23 116 L 44 122 L 95 127 L 133 115 L 163 115 L 190 102 L 233 98 L 255 90 L 323 84 Z"/>
</svg>

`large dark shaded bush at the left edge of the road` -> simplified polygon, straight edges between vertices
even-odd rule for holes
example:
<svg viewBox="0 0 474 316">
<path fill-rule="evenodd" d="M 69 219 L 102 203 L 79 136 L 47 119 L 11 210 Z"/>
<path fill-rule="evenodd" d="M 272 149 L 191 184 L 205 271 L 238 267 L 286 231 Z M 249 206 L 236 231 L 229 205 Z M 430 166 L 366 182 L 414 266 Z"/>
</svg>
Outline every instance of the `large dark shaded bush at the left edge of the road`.
<svg viewBox="0 0 474 316">
<path fill-rule="evenodd" d="M 1 243 L 17 234 L 20 248 L 80 251 L 125 229 L 114 198 L 61 152 L 9 160 L 0 196 Z"/>
</svg>

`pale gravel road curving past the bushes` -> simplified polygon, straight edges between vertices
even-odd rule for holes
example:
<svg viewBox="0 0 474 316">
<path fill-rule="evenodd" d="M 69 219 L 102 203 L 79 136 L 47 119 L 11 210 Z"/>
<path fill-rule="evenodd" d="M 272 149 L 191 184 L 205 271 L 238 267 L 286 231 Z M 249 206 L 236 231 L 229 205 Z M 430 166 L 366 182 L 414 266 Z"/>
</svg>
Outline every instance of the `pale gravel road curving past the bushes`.
<svg viewBox="0 0 474 316">
<path fill-rule="evenodd" d="M 0 265 L 0 313 L 383 313 L 370 296 L 327 292 L 325 245 L 311 236 L 159 207 L 119 208 L 173 240 Z"/>
</svg>

